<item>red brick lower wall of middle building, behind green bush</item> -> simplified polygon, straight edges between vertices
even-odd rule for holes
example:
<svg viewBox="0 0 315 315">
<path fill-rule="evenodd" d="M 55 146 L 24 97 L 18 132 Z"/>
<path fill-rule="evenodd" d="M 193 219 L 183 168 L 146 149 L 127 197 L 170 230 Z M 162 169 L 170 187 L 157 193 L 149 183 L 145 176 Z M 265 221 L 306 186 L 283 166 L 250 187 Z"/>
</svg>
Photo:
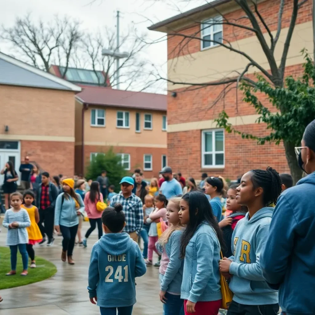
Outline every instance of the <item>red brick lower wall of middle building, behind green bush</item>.
<svg viewBox="0 0 315 315">
<path fill-rule="evenodd" d="M 106 146 L 84 146 L 85 166 L 89 164 L 90 153 L 106 152 L 110 147 Z M 162 166 L 162 155 L 167 154 L 167 149 L 162 148 L 137 148 L 137 147 L 113 147 L 116 153 L 130 154 L 130 173 L 133 173 L 135 168 L 140 167 L 143 170 L 143 155 L 152 154 L 152 171 L 144 171 L 145 178 L 158 177 L 158 172 Z"/>
</svg>

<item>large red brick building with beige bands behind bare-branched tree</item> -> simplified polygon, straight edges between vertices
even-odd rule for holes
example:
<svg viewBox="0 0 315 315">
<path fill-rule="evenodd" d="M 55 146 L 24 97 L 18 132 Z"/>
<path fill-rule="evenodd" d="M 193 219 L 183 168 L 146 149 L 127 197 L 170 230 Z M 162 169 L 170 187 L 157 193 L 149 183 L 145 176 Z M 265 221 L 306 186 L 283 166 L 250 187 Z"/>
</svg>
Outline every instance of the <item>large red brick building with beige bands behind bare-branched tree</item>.
<svg viewBox="0 0 315 315">
<path fill-rule="evenodd" d="M 280 0 L 258 2 L 258 11 L 273 36 L 277 31 L 279 3 Z M 286 75 L 300 76 L 303 71 L 301 49 L 313 50 L 311 4 L 307 1 L 299 9 L 287 56 Z M 167 33 L 168 79 L 180 83 L 168 85 L 168 164 L 174 171 L 180 170 L 184 176 L 196 179 L 206 172 L 233 180 L 249 169 L 267 166 L 279 172 L 289 172 L 283 145 L 259 146 L 254 140 L 243 140 L 241 136 L 217 129 L 214 119 L 225 109 L 229 122 L 239 131 L 257 136 L 268 134 L 265 124 L 255 123 L 258 115 L 252 106 L 242 101 L 242 92 L 238 90 L 236 94 L 236 85 L 221 98 L 222 85 L 203 88 L 193 85 L 233 77 L 233 72 L 241 73 L 245 69 L 248 60 L 213 42 L 185 39 L 182 34 L 212 40 L 224 38 L 268 70 L 266 56 L 253 32 L 222 24 L 204 26 L 207 21 L 221 20 L 222 15 L 229 21 L 240 21 L 244 12 L 234 1 L 216 0 L 149 27 Z M 286 0 L 275 50 L 277 62 L 281 60 L 291 15 L 292 1 Z M 249 20 L 241 21 L 243 25 L 251 26 Z M 268 40 L 266 29 L 262 29 Z M 258 70 L 250 68 L 248 77 L 255 78 L 254 72 Z M 264 104 L 275 110 L 266 101 Z"/>
</svg>

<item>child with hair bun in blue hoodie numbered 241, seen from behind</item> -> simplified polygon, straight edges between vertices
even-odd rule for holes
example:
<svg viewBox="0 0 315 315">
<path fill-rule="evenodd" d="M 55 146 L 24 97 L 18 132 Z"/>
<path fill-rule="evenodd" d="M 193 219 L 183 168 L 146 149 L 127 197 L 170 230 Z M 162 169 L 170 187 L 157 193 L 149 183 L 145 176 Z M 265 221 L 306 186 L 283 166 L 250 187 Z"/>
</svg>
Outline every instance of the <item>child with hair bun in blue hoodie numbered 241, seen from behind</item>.
<svg viewBox="0 0 315 315">
<path fill-rule="evenodd" d="M 103 235 L 95 243 L 89 266 L 89 296 L 101 315 L 131 315 L 136 302 L 135 277 L 146 273 L 138 244 L 122 232 L 125 215 L 121 204 L 102 214 Z"/>
</svg>

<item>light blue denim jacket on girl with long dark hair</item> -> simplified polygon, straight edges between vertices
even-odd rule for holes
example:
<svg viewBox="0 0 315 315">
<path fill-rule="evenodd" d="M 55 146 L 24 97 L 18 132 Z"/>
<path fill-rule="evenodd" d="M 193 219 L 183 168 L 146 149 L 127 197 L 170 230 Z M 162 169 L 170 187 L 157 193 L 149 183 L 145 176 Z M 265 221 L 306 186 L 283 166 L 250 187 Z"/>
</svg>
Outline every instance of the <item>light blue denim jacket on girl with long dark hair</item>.
<svg viewBox="0 0 315 315">
<path fill-rule="evenodd" d="M 219 261 L 216 233 L 201 223 L 186 247 L 181 298 L 193 303 L 221 300 Z"/>
</svg>

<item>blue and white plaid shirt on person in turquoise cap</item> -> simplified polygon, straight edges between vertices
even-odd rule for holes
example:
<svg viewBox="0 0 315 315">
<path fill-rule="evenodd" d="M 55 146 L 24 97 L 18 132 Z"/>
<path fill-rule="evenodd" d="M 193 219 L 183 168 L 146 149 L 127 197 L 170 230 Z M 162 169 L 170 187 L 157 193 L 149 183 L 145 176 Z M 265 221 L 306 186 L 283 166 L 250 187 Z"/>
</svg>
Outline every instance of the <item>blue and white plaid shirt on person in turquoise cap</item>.
<svg viewBox="0 0 315 315">
<path fill-rule="evenodd" d="M 126 217 L 126 226 L 123 232 L 137 232 L 140 234 L 143 226 L 143 209 L 142 201 L 134 193 L 127 199 L 123 197 L 123 193 L 119 193 L 112 197 L 110 207 L 120 203 L 123 205 L 123 212 Z"/>
</svg>

